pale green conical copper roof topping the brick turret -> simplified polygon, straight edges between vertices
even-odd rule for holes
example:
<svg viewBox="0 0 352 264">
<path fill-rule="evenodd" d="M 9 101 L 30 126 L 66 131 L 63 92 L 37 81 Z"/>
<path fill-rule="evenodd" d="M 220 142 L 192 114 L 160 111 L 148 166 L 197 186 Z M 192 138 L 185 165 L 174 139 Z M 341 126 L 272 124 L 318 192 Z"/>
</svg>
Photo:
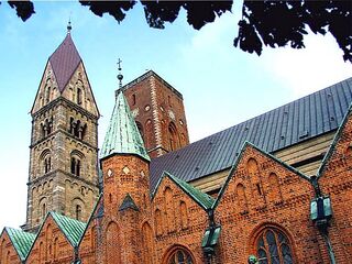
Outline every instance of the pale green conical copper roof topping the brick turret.
<svg viewBox="0 0 352 264">
<path fill-rule="evenodd" d="M 112 154 L 135 154 L 150 161 L 122 91 L 117 95 L 108 132 L 100 151 L 100 158 Z"/>
</svg>

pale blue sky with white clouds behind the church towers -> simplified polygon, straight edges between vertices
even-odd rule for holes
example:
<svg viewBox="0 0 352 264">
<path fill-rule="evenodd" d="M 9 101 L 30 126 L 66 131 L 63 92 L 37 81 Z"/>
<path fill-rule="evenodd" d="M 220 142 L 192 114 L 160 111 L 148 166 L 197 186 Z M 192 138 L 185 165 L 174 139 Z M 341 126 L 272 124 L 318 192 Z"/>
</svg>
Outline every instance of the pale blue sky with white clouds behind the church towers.
<svg viewBox="0 0 352 264">
<path fill-rule="evenodd" d="M 330 36 L 308 35 L 305 50 L 264 50 L 257 57 L 232 46 L 240 4 L 200 31 L 180 13 L 165 30 L 148 28 L 138 4 L 119 24 L 77 2 L 35 2 L 23 23 L 0 6 L 0 229 L 25 221 L 31 110 L 48 56 L 66 35 L 84 59 L 102 114 L 99 142 L 118 87 L 153 69 L 184 95 L 191 142 L 352 76 L 351 64 Z"/>
</svg>

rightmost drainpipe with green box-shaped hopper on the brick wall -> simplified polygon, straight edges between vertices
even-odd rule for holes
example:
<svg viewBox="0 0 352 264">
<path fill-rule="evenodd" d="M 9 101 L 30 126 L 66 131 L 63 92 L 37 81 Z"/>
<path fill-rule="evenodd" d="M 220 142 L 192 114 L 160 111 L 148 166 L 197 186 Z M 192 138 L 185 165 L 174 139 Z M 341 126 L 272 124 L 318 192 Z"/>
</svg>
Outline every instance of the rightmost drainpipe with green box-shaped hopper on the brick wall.
<svg viewBox="0 0 352 264">
<path fill-rule="evenodd" d="M 327 244 L 330 263 L 336 264 L 337 262 L 328 231 L 330 227 L 329 220 L 332 217 L 330 197 L 322 195 L 317 176 L 311 176 L 310 179 L 316 193 L 316 198 L 310 202 L 310 218 Z"/>
</svg>

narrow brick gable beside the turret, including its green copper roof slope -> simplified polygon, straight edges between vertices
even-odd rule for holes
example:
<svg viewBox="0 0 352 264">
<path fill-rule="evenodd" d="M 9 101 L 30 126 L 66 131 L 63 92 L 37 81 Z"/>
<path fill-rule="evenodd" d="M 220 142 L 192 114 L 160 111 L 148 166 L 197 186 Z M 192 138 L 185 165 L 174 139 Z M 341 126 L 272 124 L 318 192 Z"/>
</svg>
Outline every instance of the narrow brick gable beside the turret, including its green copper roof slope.
<svg viewBox="0 0 352 264">
<path fill-rule="evenodd" d="M 207 210 L 212 204 L 210 196 L 164 173 L 152 198 L 155 246 L 162 253 L 157 263 L 173 263 L 177 252 L 189 263 L 204 261 L 201 240 L 209 226 Z M 179 244 L 175 244 L 175 237 Z"/>
</svg>

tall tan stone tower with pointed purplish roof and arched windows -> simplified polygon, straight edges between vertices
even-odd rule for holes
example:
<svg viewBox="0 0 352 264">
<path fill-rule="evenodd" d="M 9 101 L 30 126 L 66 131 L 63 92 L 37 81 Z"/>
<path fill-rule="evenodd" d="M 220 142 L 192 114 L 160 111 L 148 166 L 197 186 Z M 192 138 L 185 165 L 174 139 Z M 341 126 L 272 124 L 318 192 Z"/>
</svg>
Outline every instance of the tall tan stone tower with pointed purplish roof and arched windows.
<svg viewBox="0 0 352 264">
<path fill-rule="evenodd" d="M 38 228 L 47 211 L 87 221 L 99 195 L 100 114 L 70 24 L 67 30 L 48 58 L 31 110 L 24 230 Z"/>
</svg>

